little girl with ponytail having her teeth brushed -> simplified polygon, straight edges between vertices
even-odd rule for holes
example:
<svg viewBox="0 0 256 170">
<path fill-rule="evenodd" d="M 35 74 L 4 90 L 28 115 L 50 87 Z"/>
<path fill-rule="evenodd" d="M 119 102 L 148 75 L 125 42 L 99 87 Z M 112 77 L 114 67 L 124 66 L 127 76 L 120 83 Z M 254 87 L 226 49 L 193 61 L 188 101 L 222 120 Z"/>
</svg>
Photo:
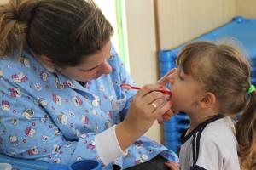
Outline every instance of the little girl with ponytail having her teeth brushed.
<svg viewBox="0 0 256 170">
<path fill-rule="evenodd" d="M 224 43 L 192 42 L 178 55 L 169 80 L 172 109 L 190 117 L 181 169 L 256 169 L 256 92 L 241 52 Z M 241 112 L 235 133 L 230 117 Z"/>
</svg>

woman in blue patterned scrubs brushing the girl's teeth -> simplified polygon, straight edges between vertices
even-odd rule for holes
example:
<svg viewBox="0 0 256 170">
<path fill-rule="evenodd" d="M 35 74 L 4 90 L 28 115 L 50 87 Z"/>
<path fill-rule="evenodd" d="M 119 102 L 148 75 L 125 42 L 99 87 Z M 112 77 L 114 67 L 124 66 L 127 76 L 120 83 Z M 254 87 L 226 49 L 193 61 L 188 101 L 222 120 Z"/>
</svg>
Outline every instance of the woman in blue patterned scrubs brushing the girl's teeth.
<svg viewBox="0 0 256 170">
<path fill-rule="evenodd" d="M 154 91 L 160 85 L 136 95 L 120 88 L 133 82 L 93 2 L 10 0 L 0 6 L 0 29 L 0 153 L 61 164 L 96 159 L 105 169 L 177 161 L 141 137 L 172 115 L 171 102 Z"/>
</svg>

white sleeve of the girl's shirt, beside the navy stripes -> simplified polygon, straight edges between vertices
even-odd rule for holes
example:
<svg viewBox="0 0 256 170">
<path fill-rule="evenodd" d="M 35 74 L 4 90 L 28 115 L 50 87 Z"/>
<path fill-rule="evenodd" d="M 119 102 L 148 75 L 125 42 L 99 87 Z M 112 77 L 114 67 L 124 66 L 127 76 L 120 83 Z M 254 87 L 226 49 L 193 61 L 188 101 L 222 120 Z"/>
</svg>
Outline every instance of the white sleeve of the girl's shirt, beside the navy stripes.
<svg viewBox="0 0 256 170">
<path fill-rule="evenodd" d="M 206 169 L 238 169 L 237 142 L 228 117 L 207 124 L 202 131 L 196 165 Z M 214 165 L 211 164 L 214 162 Z M 218 164 L 223 162 L 224 164 Z M 211 166 L 215 166 L 212 168 Z"/>
</svg>

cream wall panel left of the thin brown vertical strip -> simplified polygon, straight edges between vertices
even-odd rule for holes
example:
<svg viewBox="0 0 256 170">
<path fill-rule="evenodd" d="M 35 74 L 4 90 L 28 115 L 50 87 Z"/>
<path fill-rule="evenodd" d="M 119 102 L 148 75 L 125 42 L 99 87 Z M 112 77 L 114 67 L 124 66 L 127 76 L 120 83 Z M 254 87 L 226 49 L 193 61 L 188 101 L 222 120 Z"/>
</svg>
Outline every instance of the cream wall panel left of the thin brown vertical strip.
<svg viewBox="0 0 256 170">
<path fill-rule="evenodd" d="M 131 76 L 139 86 L 153 83 L 158 78 L 154 0 L 126 0 L 125 6 Z M 154 123 L 146 135 L 160 142 L 160 125 Z"/>
</svg>

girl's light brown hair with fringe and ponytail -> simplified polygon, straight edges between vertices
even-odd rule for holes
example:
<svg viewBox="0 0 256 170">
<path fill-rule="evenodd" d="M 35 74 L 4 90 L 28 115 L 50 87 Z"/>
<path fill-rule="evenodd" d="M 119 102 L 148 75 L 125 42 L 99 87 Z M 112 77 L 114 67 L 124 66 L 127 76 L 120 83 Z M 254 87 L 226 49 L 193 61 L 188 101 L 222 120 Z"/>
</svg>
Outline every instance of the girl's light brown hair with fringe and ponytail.
<svg viewBox="0 0 256 170">
<path fill-rule="evenodd" d="M 177 57 L 177 65 L 215 94 L 224 115 L 243 112 L 236 122 L 242 167 L 256 168 L 256 92 L 251 87 L 250 63 L 240 50 L 226 43 L 192 42 Z"/>
</svg>

